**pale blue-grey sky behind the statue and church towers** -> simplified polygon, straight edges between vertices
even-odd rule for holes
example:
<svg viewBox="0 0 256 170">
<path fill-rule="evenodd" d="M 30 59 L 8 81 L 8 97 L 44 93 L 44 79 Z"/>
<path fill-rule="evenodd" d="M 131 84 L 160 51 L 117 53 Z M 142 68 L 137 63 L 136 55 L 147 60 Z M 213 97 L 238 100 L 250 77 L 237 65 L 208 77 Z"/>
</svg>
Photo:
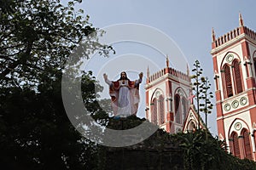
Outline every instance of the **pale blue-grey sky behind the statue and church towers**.
<svg viewBox="0 0 256 170">
<path fill-rule="evenodd" d="M 176 46 L 177 53 L 179 53 L 173 53 L 173 50 L 170 53 L 166 52 L 172 65 L 176 67 L 177 62 L 183 63 L 178 59 L 184 58 L 191 70 L 193 63 L 198 59 L 201 62 L 201 68 L 204 70 L 204 76 L 209 77 L 212 82 L 212 92 L 214 92 L 212 56 L 210 54 L 212 27 L 216 37 L 220 37 L 239 26 L 238 14 L 241 13 L 244 25 L 256 30 L 255 6 L 256 2 L 254 0 L 84 0 L 83 3 L 79 4 L 79 8 L 84 9 L 84 14 L 90 16 L 90 23 L 97 28 L 136 23 L 150 26 L 166 34 L 172 40 L 172 45 Z M 148 36 L 150 37 L 150 34 Z M 162 45 L 166 44 L 162 42 Z M 145 44 L 119 42 L 113 44 L 113 48 L 116 50 L 116 54 L 110 55 L 105 60 L 92 59 L 86 66 L 86 69 L 95 71 L 96 77 L 99 78 L 101 83 L 104 83 L 101 78 L 104 71 L 107 71 L 109 79 L 117 79 L 119 71 L 122 69 L 128 70 L 129 77 L 136 79 L 137 71 L 131 69 L 133 67 L 140 68 L 145 77 L 148 65 L 150 71 L 153 72 L 166 65 L 166 54 L 160 53 L 155 48 L 148 47 Z M 127 59 L 128 55 L 131 58 Z M 148 63 L 143 63 L 143 57 L 145 56 Z M 142 61 L 137 58 L 142 59 Z M 117 62 L 116 59 L 121 60 Z M 113 63 L 116 65 L 113 65 Z M 113 68 L 119 67 L 118 65 L 121 65 L 121 68 L 113 71 Z M 108 71 L 109 68 L 112 68 L 113 72 Z M 185 68 L 186 64 L 183 63 L 183 68 L 178 67 L 178 70 L 185 71 Z M 143 80 L 143 83 L 145 83 L 145 80 Z M 106 84 L 102 85 L 106 93 L 108 87 Z M 145 94 L 143 93 L 144 90 L 141 90 L 140 110 L 144 114 Z M 106 94 L 102 94 L 102 96 L 108 98 Z M 215 104 L 215 99 L 212 100 L 212 103 Z M 143 116 L 143 114 L 139 116 Z M 208 117 L 210 131 L 217 134 L 215 108 Z"/>
</svg>

